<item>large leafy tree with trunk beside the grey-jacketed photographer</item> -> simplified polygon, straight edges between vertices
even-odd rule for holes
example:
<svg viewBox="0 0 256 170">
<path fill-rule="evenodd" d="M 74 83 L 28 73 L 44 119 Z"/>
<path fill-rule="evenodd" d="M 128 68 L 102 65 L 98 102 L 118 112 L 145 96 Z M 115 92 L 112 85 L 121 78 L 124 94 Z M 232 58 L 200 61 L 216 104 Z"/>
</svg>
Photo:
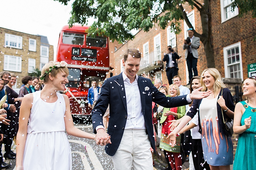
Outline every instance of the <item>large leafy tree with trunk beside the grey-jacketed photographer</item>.
<svg viewBox="0 0 256 170">
<path fill-rule="evenodd" d="M 54 1 L 67 5 L 70 0 Z M 189 22 L 184 9 L 185 3 L 200 12 L 202 34 L 199 34 Z M 211 44 L 209 0 L 204 0 L 203 3 L 197 0 L 75 0 L 71 14 L 70 26 L 74 23 L 86 25 L 88 18 L 94 17 L 96 21 L 88 29 L 88 33 L 105 35 L 119 42 L 132 39 L 134 37 L 131 33 L 132 29 L 143 29 L 148 32 L 155 23 L 165 29 L 170 21 L 171 29 L 179 33 L 181 32 L 179 22 L 184 19 L 204 45 L 207 67 L 215 67 Z"/>
</svg>

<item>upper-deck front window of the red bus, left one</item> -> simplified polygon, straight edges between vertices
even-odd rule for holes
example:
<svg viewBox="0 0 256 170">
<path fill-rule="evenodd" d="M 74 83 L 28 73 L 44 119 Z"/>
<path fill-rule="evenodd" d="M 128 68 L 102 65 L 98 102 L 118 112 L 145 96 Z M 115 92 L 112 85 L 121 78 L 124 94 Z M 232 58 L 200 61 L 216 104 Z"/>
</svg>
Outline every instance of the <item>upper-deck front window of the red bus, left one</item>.
<svg viewBox="0 0 256 170">
<path fill-rule="evenodd" d="M 64 44 L 83 45 L 84 34 L 64 32 L 62 36 L 62 42 Z"/>
</svg>

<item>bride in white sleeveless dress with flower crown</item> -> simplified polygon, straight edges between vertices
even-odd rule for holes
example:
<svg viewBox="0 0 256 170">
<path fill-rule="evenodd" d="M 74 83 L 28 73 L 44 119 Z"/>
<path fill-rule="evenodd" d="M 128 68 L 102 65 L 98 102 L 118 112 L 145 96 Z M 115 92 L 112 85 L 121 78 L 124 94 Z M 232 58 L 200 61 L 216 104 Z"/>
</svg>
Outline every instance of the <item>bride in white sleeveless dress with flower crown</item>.
<svg viewBox="0 0 256 170">
<path fill-rule="evenodd" d="M 67 135 L 95 140 L 95 135 L 74 127 L 65 90 L 69 71 L 65 61 L 50 61 L 42 68 L 44 88 L 23 97 L 16 140 L 16 169 L 71 170 Z M 29 121 L 29 125 L 28 125 Z"/>
</svg>

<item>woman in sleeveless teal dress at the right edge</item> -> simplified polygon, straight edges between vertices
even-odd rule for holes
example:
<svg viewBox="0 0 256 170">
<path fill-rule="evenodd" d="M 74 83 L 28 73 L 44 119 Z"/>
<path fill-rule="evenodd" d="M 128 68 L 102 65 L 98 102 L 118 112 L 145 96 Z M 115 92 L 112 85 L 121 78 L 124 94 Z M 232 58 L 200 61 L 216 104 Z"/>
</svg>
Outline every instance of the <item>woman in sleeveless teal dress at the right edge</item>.
<svg viewBox="0 0 256 170">
<path fill-rule="evenodd" d="M 249 170 L 256 167 L 256 79 L 247 78 L 243 83 L 243 95 L 247 100 L 235 107 L 234 133 L 239 134 L 233 170 Z"/>
</svg>

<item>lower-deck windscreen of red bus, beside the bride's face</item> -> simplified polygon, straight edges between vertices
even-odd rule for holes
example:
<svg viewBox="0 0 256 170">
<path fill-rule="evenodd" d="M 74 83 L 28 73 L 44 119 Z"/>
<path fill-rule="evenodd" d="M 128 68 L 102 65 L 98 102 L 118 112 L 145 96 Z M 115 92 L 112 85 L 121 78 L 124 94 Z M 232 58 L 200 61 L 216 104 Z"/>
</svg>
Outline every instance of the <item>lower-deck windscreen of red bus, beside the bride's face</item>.
<svg viewBox="0 0 256 170">
<path fill-rule="evenodd" d="M 80 69 L 74 69 L 74 68 L 69 68 L 69 76 L 68 76 L 68 81 L 69 83 L 66 84 L 67 87 L 73 87 L 73 88 L 78 88 L 80 84 Z"/>
</svg>

